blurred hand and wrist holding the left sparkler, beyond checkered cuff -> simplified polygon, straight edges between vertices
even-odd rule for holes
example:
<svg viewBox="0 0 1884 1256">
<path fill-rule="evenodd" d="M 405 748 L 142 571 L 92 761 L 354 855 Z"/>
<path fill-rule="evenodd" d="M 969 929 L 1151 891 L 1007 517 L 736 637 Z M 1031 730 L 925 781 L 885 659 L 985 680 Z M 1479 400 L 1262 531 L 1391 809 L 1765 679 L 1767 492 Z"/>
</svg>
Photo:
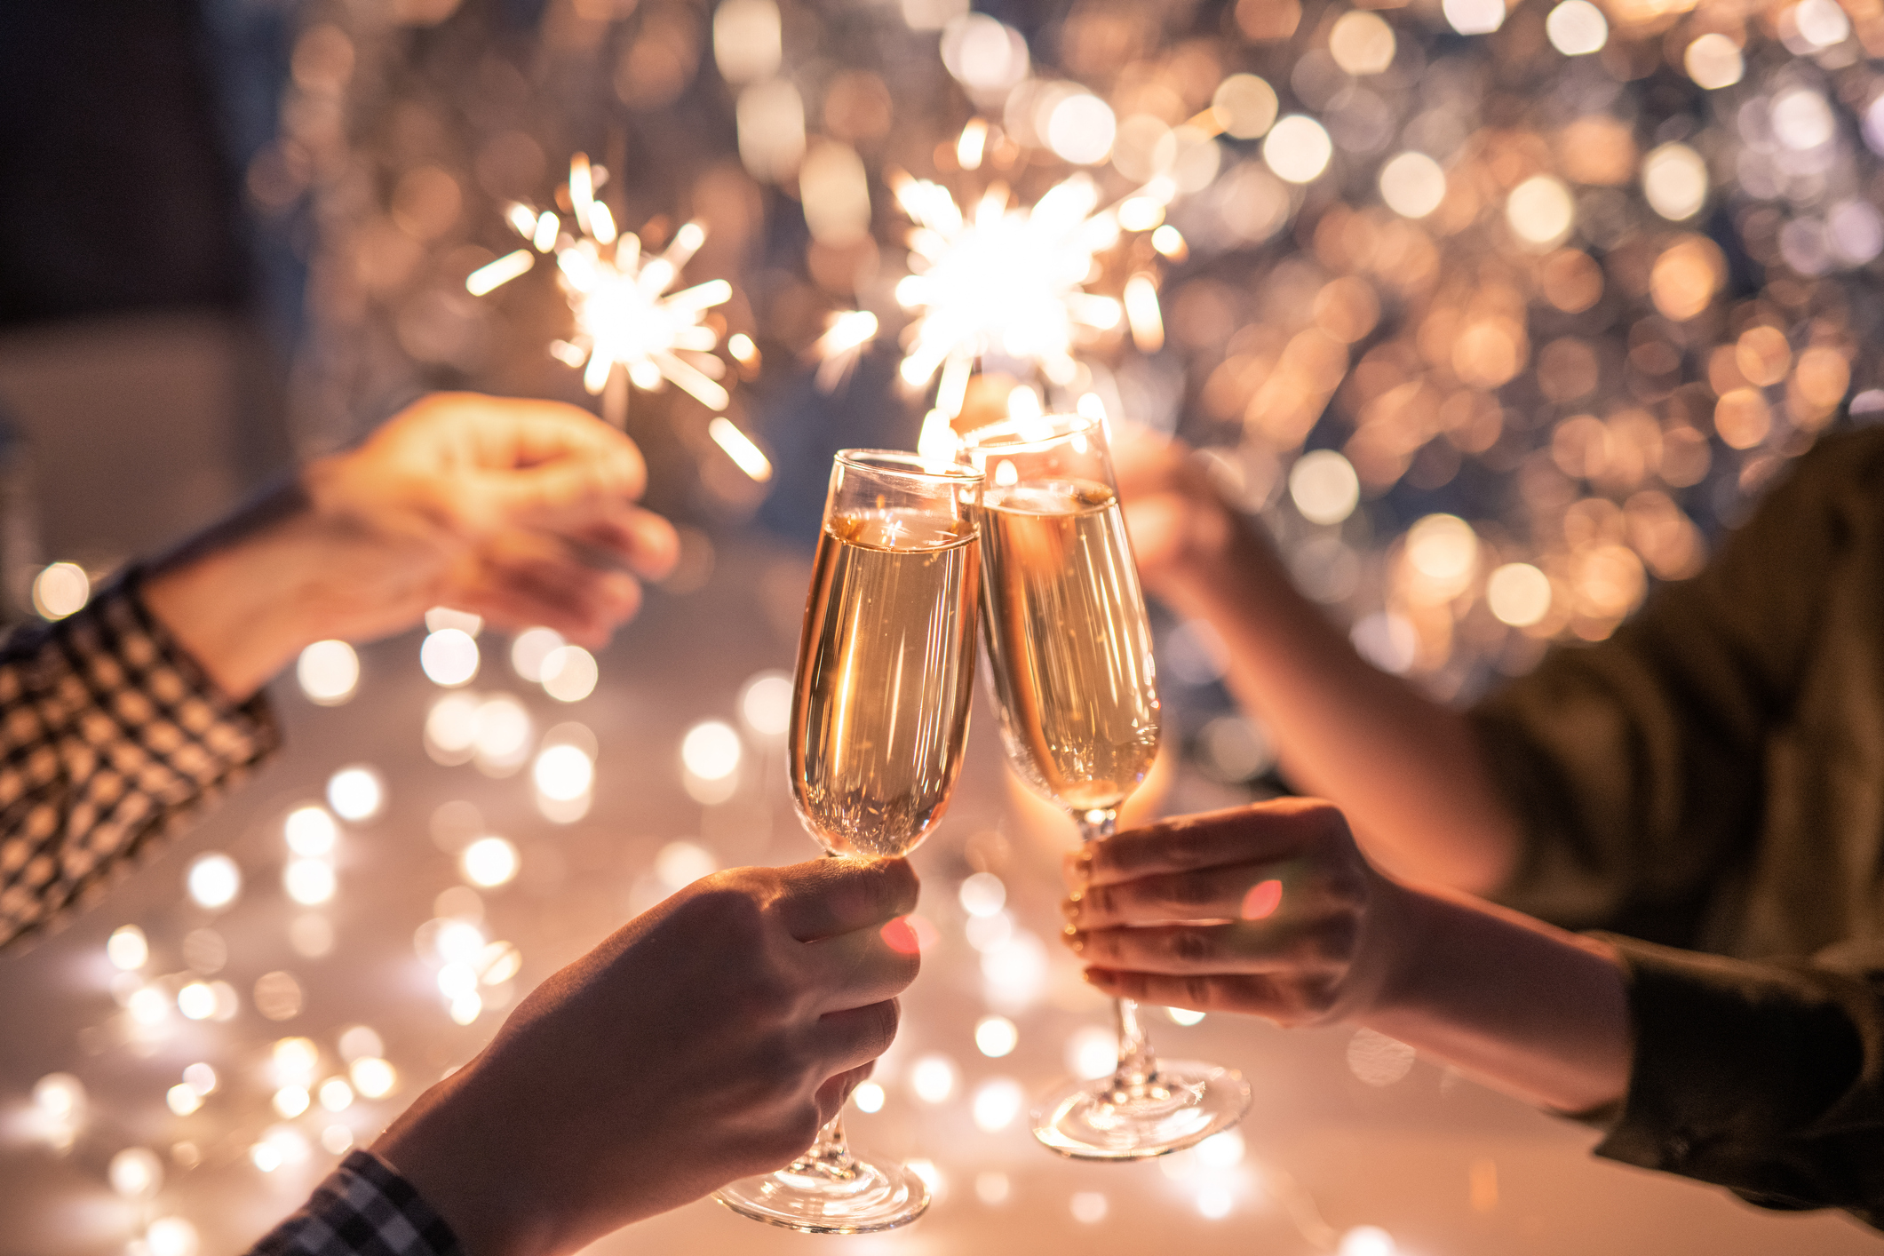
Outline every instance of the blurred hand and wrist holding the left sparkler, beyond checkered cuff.
<svg viewBox="0 0 1884 1256">
<path fill-rule="evenodd" d="M 575 407 L 441 394 L 187 540 L 143 597 L 236 699 L 309 642 L 439 604 L 599 644 L 641 604 L 635 576 L 674 561 L 673 527 L 633 505 L 644 480 L 635 444 Z"/>
</svg>

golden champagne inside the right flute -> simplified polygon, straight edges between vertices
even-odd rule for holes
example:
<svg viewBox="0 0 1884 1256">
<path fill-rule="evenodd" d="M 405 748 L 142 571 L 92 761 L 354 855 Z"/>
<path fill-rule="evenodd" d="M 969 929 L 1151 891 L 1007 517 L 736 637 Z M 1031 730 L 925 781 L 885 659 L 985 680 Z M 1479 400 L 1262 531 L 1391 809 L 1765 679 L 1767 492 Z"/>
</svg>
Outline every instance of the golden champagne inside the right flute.
<svg viewBox="0 0 1884 1256">
<path fill-rule="evenodd" d="M 987 657 L 1008 763 L 1074 812 L 1151 770 L 1159 693 L 1125 516 L 1087 480 L 987 488 Z"/>
</svg>

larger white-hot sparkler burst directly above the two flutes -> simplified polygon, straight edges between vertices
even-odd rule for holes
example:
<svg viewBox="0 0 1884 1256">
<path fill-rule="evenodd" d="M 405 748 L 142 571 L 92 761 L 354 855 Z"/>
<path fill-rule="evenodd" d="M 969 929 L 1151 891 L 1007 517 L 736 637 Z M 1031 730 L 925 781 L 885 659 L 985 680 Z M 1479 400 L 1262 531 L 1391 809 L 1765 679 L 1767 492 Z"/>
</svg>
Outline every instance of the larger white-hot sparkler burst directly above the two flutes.
<svg viewBox="0 0 1884 1256">
<path fill-rule="evenodd" d="M 966 134 L 963 147 L 972 147 Z M 944 414 L 961 412 L 980 358 L 1019 360 L 1066 386 L 1080 373 L 1074 354 L 1125 322 L 1115 298 L 1085 288 L 1095 256 L 1123 230 L 1117 209 L 1098 209 L 1089 175 L 1076 173 L 1025 207 L 1010 205 L 1006 185 L 995 183 L 970 211 L 927 179 L 893 177 L 891 188 L 914 224 L 910 275 L 897 284 L 897 301 L 916 314 L 902 380 L 927 388 L 940 373 L 934 405 Z M 1144 211 L 1136 222 L 1157 226 Z"/>
</svg>

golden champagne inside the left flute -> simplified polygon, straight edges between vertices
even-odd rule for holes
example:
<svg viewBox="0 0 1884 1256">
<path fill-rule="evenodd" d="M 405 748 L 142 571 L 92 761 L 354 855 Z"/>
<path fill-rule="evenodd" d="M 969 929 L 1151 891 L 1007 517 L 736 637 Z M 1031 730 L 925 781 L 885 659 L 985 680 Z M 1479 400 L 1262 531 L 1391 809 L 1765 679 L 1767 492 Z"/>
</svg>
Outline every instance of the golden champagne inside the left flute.
<svg viewBox="0 0 1884 1256">
<path fill-rule="evenodd" d="M 910 851 L 968 742 L 982 548 L 908 510 L 825 522 L 791 699 L 791 793 L 836 855 Z"/>
</svg>

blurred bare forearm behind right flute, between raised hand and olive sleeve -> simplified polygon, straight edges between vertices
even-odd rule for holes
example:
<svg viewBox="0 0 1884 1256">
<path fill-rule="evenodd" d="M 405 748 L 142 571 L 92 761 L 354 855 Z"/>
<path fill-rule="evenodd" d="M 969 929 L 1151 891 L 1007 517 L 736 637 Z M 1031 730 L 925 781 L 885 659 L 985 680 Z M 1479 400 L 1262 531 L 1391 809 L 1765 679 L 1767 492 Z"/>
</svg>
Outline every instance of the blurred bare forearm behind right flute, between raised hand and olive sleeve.
<svg viewBox="0 0 1884 1256">
<path fill-rule="evenodd" d="M 1464 716 L 1366 663 L 1243 527 L 1161 586 L 1228 648 L 1226 684 L 1277 734 L 1292 781 L 1347 812 L 1398 874 L 1488 893 L 1511 874 L 1517 829 Z"/>
</svg>

